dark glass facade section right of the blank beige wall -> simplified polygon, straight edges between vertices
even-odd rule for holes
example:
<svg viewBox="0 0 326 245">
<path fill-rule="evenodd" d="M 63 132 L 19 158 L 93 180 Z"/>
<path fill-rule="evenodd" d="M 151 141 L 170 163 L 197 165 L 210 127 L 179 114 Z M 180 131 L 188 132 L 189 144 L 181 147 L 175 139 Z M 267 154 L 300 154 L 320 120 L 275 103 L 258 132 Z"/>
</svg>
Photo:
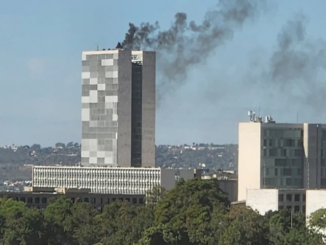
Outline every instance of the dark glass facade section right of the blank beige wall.
<svg viewBox="0 0 326 245">
<path fill-rule="evenodd" d="M 263 129 L 263 188 L 303 188 L 304 148 L 302 128 Z"/>
</svg>

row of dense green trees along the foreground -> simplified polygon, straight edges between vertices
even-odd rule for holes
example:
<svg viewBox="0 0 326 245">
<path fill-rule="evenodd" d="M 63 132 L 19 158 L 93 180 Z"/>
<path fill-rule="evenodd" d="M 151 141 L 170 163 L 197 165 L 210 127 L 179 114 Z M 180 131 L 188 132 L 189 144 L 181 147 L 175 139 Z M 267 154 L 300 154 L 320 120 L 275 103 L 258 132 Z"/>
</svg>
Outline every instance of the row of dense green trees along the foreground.
<svg viewBox="0 0 326 245">
<path fill-rule="evenodd" d="M 302 214 L 286 210 L 259 215 L 230 208 L 215 180 L 180 180 L 168 193 L 153 190 L 147 205 L 106 205 L 102 213 L 87 203 L 59 198 L 44 211 L 0 200 L 0 244 L 324 244 L 307 229 Z M 324 210 L 312 219 L 324 225 Z"/>
</svg>

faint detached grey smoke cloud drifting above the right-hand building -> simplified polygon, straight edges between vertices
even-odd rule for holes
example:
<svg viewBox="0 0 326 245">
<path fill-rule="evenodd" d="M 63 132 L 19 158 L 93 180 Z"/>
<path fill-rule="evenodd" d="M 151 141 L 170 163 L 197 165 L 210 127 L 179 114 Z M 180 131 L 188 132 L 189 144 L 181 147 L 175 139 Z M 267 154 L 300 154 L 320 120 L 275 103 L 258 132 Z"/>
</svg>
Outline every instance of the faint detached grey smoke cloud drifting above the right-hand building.
<svg viewBox="0 0 326 245">
<path fill-rule="evenodd" d="M 320 106 L 326 91 L 322 76 L 326 68 L 326 43 L 308 38 L 306 24 L 303 14 L 287 21 L 270 59 L 269 76 L 288 97 L 315 107 Z"/>
</svg>

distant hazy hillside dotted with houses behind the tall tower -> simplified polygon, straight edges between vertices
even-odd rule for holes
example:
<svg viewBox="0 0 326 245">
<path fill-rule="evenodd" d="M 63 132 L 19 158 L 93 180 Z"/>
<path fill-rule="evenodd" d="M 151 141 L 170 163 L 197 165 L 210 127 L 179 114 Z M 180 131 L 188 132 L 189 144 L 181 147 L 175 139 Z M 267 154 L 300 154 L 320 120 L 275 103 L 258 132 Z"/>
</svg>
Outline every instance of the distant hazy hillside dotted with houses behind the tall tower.
<svg viewBox="0 0 326 245">
<path fill-rule="evenodd" d="M 200 167 L 217 171 L 236 169 L 237 145 L 158 145 L 156 166 Z M 80 145 L 69 142 L 54 147 L 7 145 L 0 148 L 0 185 L 6 181 L 31 180 L 32 165 L 78 165 Z M 203 165 L 204 164 L 204 165 Z"/>
</svg>

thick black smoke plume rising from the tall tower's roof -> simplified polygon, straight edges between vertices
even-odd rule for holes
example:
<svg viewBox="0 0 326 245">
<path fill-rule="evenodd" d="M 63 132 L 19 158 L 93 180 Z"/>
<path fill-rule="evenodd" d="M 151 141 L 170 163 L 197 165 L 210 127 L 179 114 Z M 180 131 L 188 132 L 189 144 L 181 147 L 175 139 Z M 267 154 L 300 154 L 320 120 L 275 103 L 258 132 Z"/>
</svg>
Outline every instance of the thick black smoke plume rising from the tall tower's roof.
<svg viewBox="0 0 326 245">
<path fill-rule="evenodd" d="M 245 21 L 257 16 L 262 3 L 261 0 L 220 0 L 206 12 L 202 23 L 188 21 L 185 13 L 177 13 L 168 30 L 161 30 L 157 21 L 144 22 L 139 27 L 129 23 L 121 45 L 157 52 L 159 76 L 162 76 L 159 85 L 183 83 L 188 68 L 204 62 L 216 47 L 232 39 Z"/>
</svg>

